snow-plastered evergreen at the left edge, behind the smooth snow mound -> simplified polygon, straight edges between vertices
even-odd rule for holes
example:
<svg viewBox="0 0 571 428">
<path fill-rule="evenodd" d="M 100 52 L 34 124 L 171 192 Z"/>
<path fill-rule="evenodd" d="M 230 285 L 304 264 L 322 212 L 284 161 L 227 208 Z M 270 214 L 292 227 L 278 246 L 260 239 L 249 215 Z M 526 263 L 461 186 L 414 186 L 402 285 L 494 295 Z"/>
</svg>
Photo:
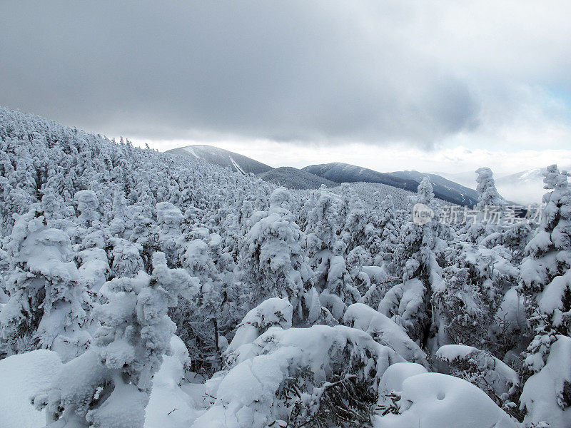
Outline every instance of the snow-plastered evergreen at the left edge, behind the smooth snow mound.
<svg viewBox="0 0 571 428">
<path fill-rule="evenodd" d="M 89 344 L 90 298 L 74 263 L 64 231 L 49 228 L 39 204 L 16 223 L 6 240 L 9 300 L 0 311 L 0 337 L 6 354 L 53 349 L 63 360 Z"/>
</svg>

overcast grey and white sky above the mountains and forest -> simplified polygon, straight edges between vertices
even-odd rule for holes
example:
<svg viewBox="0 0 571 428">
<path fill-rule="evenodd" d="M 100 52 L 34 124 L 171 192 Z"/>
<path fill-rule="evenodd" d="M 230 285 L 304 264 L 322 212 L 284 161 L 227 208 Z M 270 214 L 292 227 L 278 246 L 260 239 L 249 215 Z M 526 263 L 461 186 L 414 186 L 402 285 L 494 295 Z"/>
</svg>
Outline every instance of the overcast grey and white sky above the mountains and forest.
<svg viewBox="0 0 571 428">
<path fill-rule="evenodd" d="M 0 105 L 273 166 L 571 165 L 571 2 L 0 1 Z"/>
</svg>

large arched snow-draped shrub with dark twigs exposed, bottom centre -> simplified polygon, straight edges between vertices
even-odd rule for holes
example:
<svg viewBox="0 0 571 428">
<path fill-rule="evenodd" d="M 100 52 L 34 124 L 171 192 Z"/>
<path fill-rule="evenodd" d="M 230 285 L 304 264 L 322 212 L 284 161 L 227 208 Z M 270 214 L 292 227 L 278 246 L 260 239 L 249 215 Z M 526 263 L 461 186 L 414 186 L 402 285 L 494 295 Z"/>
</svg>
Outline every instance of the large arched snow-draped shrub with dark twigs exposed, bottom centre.
<svg viewBox="0 0 571 428">
<path fill-rule="evenodd" d="M 326 325 L 271 327 L 233 354 L 193 428 L 370 424 L 380 377 L 403 362 L 365 332 Z"/>
</svg>

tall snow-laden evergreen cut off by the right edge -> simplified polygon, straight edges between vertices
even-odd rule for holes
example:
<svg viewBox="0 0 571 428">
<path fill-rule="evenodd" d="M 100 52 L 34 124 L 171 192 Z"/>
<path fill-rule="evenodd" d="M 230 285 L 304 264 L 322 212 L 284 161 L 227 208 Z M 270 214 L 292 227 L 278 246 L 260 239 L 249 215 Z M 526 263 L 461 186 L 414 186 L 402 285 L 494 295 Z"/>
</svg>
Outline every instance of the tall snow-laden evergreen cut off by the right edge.
<svg viewBox="0 0 571 428">
<path fill-rule="evenodd" d="M 536 399 L 536 392 L 530 390 L 537 387 L 538 378 L 546 376 L 542 374 L 547 370 L 544 367 L 550 361 L 561 367 L 571 367 L 571 355 L 559 348 L 558 356 L 550 357 L 554 342 L 567 344 L 571 335 L 571 188 L 567 179 L 570 174 L 550 165 L 544 175 L 545 188 L 551 191 L 543 196 L 546 205 L 541 223 L 525 248 L 527 257 L 520 268 L 520 287 L 526 296 L 530 324 L 535 332 L 525 357 L 526 374 L 534 375 L 530 377 L 531 382 L 527 381 L 530 384 L 526 382 L 522 393 L 522 407 L 527 412 L 526 421 L 529 423 L 544 422 L 538 419 L 538 415 L 546 417 L 537 408 L 545 403 Z M 571 419 L 562 415 L 570 412 L 571 405 L 571 372 L 563 370 L 565 372 L 554 388 L 545 391 L 550 397 L 554 393 L 557 397 L 557 407 L 552 407 L 555 414 L 545 419 L 550 427 L 564 427 L 571 423 Z"/>
</svg>

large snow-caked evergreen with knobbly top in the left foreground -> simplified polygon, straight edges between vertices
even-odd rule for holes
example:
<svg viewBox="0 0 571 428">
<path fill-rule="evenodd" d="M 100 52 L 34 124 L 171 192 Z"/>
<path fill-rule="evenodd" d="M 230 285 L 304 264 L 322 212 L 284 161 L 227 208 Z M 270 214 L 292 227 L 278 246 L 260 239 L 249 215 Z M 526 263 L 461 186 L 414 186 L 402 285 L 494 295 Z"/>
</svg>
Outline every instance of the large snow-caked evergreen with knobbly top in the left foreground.
<svg viewBox="0 0 571 428">
<path fill-rule="evenodd" d="M 196 292 L 185 270 L 167 267 L 164 253 L 153 254 L 152 265 L 152 275 L 109 282 L 108 302 L 94 310 L 101 323 L 94 346 L 34 397 L 36 407 L 47 406 L 48 427 L 144 426 L 151 380 L 176 329 L 168 307 L 181 292 Z"/>
</svg>

